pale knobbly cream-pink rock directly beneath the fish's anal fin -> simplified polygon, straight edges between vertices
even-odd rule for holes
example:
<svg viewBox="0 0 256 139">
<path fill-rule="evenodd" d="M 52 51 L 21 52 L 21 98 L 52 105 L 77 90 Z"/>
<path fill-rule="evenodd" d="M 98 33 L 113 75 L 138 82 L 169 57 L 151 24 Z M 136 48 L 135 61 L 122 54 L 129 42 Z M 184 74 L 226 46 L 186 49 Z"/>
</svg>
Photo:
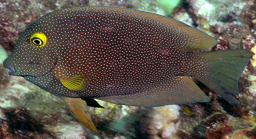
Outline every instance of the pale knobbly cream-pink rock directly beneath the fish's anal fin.
<svg viewBox="0 0 256 139">
<path fill-rule="evenodd" d="M 179 121 L 178 105 L 167 105 L 162 107 L 146 108 L 145 119 L 142 120 L 142 130 L 153 138 L 173 138 L 176 137 Z"/>
</svg>

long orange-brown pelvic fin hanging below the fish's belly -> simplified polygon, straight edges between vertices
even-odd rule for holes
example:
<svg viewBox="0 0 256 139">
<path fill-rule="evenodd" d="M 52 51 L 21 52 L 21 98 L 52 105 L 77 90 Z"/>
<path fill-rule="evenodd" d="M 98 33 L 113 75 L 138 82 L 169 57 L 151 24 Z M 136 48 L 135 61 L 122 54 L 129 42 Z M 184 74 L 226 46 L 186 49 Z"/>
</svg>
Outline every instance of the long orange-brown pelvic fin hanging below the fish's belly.
<svg viewBox="0 0 256 139">
<path fill-rule="evenodd" d="M 62 97 L 62 100 L 79 122 L 81 122 L 86 128 L 93 131 L 98 136 L 101 136 L 91 121 L 91 116 L 88 114 L 88 107 L 84 100 L 81 98 L 68 97 Z"/>
</svg>

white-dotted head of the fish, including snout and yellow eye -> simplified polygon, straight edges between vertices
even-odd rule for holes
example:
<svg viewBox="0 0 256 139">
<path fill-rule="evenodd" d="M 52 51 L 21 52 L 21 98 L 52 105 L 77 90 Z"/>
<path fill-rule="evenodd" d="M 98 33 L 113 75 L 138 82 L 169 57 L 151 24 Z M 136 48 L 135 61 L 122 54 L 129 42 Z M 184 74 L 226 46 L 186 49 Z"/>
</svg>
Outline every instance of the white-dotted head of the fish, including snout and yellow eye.
<svg viewBox="0 0 256 139">
<path fill-rule="evenodd" d="M 46 16 L 30 24 L 15 44 L 11 56 L 3 62 L 9 75 L 40 77 L 49 73 L 58 59 L 54 31 Z"/>
</svg>

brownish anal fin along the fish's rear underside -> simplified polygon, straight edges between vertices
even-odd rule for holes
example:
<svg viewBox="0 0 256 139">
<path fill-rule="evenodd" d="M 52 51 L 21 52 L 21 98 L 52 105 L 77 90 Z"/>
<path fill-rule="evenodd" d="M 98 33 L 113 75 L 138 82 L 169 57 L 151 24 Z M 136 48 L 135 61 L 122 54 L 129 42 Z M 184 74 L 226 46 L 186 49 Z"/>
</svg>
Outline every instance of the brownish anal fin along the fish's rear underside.
<svg viewBox="0 0 256 139">
<path fill-rule="evenodd" d="M 207 95 L 187 76 L 173 76 L 165 85 L 129 95 L 98 97 L 96 99 L 129 106 L 164 106 L 207 102 Z"/>
</svg>

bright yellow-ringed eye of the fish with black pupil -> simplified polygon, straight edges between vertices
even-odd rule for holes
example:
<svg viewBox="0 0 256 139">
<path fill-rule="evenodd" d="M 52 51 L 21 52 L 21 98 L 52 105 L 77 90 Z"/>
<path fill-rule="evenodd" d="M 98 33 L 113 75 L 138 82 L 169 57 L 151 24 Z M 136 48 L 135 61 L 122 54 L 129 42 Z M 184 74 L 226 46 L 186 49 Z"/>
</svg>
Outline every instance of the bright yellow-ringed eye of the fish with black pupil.
<svg viewBox="0 0 256 139">
<path fill-rule="evenodd" d="M 30 37 L 30 42 L 39 47 L 43 47 L 44 44 L 46 44 L 46 40 L 47 40 L 47 38 L 43 33 L 34 33 Z"/>
</svg>

